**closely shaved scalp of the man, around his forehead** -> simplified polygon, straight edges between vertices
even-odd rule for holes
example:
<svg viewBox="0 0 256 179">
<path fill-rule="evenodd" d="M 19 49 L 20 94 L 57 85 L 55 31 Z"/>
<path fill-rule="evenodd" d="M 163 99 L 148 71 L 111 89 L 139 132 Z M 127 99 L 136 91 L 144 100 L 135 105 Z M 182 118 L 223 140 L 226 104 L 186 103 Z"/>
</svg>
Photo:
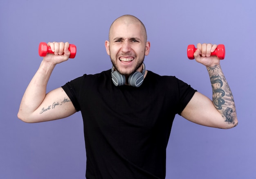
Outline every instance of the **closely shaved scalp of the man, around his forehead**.
<svg viewBox="0 0 256 179">
<path fill-rule="evenodd" d="M 126 24 L 127 26 L 130 24 L 138 24 L 141 28 L 141 35 L 144 37 L 144 41 L 147 41 L 147 33 L 144 24 L 135 16 L 133 15 L 123 15 L 118 17 L 110 26 L 108 38 L 111 39 L 112 32 L 115 28 L 115 25 L 118 23 Z"/>
</svg>

